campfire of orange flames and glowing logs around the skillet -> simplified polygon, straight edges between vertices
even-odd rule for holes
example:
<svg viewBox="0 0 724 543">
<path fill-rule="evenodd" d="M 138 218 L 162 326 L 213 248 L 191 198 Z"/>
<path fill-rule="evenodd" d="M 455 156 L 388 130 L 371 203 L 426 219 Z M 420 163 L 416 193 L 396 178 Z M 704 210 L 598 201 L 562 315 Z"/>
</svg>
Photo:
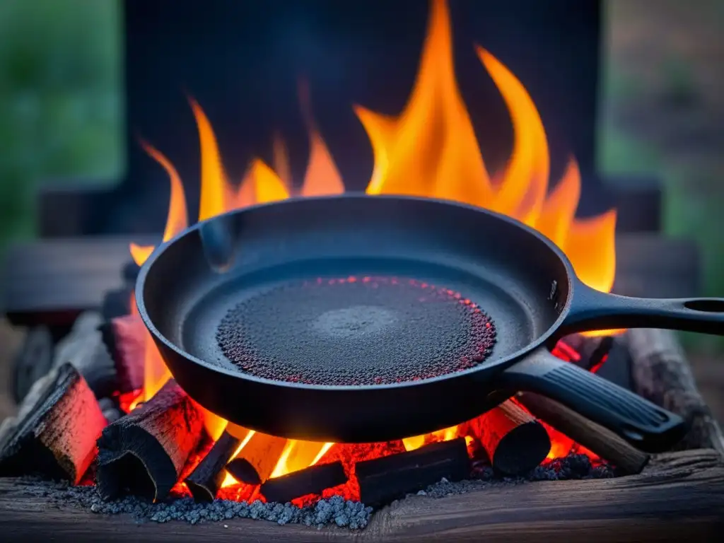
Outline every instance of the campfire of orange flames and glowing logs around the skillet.
<svg viewBox="0 0 724 543">
<path fill-rule="evenodd" d="M 615 211 L 576 218 L 581 179 L 575 157 L 560 180 L 550 180 L 546 132 L 534 102 L 508 67 L 475 46 L 481 70 L 500 90 L 513 125 L 508 163 L 489 171 L 458 90 L 451 33 L 447 4 L 434 0 L 416 82 L 403 111 L 389 117 L 353 106 L 374 152 L 369 198 L 415 195 L 506 214 L 554 241 L 587 285 L 609 292 L 615 277 Z M 282 136 L 273 141 L 271 165 L 255 159 L 240 182 L 230 178 L 211 121 L 190 99 L 201 151 L 198 220 L 258 203 L 344 192 L 334 157 L 314 122 L 310 92 L 300 84 L 310 151 L 299 189 Z M 172 160 L 150 143 L 143 147 L 169 176 L 167 241 L 188 226 L 184 187 Z M 153 249 L 131 245 L 130 253 L 141 265 Z M 227 423 L 185 394 L 132 299 L 128 314 L 101 330 L 105 350 L 93 359 L 106 365 L 93 377 L 65 365 L 35 387 L 28 400 L 34 414 L 8 438 L 2 471 L 40 471 L 72 484 L 96 485 L 106 500 L 131 493 L 155 501 L 190 496 L 303 507 L 340 496 L 378 506 L 424 492 L 442 479 L 521 476 L 536 468 L 556 473 L 571 455 L 587 466 L 579 476 L 610 475 L 614 467 L 618 473 L 638 473 L 648 458 L 610 432 L 529 393 L 502 398 L 497 408 L 463 424 L 395 442 L 308 442 L 261 434 Z M 617 332 L 569 337 L 554 353 L 597 371 Z M 109 379 L 111 400 L 104 410 L 95 396 L 99 382 L 106 386 Z M 25 455 L 32 455 L 33 469 L 22 460 Z"/>
</svg>

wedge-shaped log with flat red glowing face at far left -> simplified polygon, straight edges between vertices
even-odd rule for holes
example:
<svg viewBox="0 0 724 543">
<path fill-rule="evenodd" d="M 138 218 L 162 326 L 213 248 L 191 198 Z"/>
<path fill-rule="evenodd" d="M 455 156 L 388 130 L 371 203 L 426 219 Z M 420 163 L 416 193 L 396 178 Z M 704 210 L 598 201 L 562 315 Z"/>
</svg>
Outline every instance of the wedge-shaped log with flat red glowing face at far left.
<svg viewBox="0 0 724 543">
<path fill-rule="evenodd" d="M 39 473 L 77 484 L 96 458 L 96 439 L 106 418 L 70 363 L 51 371 L 34 389 L 0 444 L 0 475 Z"/>
</svg>

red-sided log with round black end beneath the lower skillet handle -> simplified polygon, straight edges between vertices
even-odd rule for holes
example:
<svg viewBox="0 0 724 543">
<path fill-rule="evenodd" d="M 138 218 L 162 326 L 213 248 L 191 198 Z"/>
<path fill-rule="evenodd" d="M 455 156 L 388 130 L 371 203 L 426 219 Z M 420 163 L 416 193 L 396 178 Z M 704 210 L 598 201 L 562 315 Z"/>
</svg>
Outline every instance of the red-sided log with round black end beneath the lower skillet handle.
<svg viewBox="0 0 724 543">
<path fill-rule="evenodd" d="M 505 400 L 479 416 L 473 426 L 492 467 L 500 473 L 530 471 L 550 452 L 550 437 L 544 426 L 513 400 Z"/>
</svg>

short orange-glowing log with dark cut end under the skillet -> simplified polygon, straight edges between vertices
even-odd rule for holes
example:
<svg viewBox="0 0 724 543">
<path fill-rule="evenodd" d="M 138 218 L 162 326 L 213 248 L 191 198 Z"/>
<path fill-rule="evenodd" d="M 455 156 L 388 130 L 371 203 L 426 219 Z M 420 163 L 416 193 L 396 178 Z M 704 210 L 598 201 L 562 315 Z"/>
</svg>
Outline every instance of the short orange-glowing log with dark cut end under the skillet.
<svg viewBox="0 0 724 543">
<path fill-rule="evenodd" d="M 226 471 L 240 483 L 262 484 L 271 476 L 286 444 L 284 437 L 256 432 L 227 464 Z"/>
</svg>

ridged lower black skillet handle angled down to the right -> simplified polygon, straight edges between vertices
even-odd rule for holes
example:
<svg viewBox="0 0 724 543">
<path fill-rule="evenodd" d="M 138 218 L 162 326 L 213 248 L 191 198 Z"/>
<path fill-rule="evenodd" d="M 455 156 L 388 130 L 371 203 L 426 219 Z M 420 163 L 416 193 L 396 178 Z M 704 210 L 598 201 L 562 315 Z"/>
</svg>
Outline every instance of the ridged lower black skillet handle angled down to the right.
<svg viewBox="0 0 724 543">
<path fill-rule="evenodd" d="M 662 452 L 685 432 L 681 417 L 617 384 L 539 349 L 502 371 L 500 388 L 538 392 L 646 452 Z"/>
</svg>

